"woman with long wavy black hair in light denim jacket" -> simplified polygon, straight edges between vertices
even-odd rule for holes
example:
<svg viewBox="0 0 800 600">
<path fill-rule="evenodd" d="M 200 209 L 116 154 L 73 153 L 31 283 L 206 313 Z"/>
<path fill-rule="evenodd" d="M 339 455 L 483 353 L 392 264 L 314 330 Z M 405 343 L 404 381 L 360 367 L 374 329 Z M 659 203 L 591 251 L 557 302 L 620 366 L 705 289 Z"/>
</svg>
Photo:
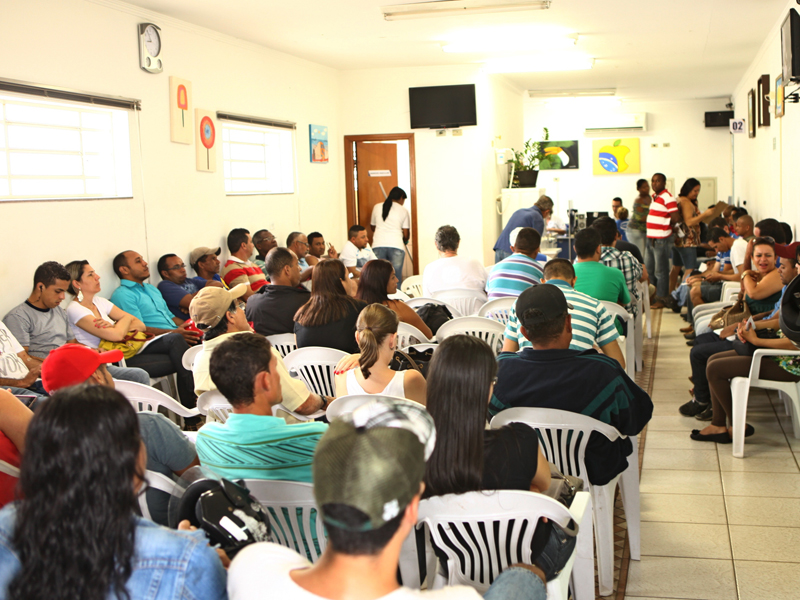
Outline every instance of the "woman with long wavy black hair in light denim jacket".
<svg viewBox="0 0 800 600">
<path fill-rule="evenodd" d="M 130 403 L 102 386 L 56 392 L 28 427 L 22 499 L 0 511 L 0 597 L 222 599 L 202 533 L 135 516 L 147 453 Z"/>
</svg>

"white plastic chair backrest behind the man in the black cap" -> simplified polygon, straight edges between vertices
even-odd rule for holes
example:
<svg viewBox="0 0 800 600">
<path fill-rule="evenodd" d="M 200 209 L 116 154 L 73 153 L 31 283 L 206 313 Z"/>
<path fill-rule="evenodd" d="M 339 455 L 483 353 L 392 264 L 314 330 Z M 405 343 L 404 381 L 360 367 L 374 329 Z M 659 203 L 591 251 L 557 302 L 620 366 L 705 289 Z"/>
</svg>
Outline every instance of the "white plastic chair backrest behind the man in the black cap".
<svg viewBox="0 0 800 600">
<path fill-rule="evenodd" d="M 611 425 L 592 417 L 554 408 L 507 408 L 498 413 L 491 423 L 499 429 L 509 423 L 526 423 L 536 430 L 542 453 L 562 473 L 583 479 L 587 485 L 584 456 L 592 432 L 605 435 L 612 442 L 622 436 Z"/>
</svg>

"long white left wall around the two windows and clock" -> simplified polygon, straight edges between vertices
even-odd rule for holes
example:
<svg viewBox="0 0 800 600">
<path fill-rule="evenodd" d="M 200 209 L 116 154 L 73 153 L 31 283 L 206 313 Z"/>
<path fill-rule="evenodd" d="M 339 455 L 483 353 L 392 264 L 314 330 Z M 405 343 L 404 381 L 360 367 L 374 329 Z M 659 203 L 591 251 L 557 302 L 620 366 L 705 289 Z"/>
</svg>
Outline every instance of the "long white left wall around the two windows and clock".
<svg viewBox="0 0 800 600">
<path fill-rule="evenodd" d="M 27 296 L 35 267 L 46 260 L 88 259 L 110 295 L 117 286 L 111 259 L 122 250 L 141 252 L 154 272 L 166 252 L 188 262 L 196 246 L 224 247 L 234 227 L 266 227 L 285 240 L 298 220 L 301 230 L 318 229 L 341 247 L 347 226 L 337 71 L 116 0 L 0 0 L 0 14 L 0 77 L 142 100 L 133 199 L 0 205 L 8 231 L 0 240 L 0 315 Z M 158 75 L 138 66 L 136 24 L 145 21 L 162 29 L 165 70 Z M 169 141 L 170 75 L 192 82 L 197 108 L 295 121 L 297 192 L 226 197 L 221 156 L 216 173 L 197 171 L 194 146 Z M 309 162 L 310 123 L 329 128 L 326 165 Z"/>
</svg>

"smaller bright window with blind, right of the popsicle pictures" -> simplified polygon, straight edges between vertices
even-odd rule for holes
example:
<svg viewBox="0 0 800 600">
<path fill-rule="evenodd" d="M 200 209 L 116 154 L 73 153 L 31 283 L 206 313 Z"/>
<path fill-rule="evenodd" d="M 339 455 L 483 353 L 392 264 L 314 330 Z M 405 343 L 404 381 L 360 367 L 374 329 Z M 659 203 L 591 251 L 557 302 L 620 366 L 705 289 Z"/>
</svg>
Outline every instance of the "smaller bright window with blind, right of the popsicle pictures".
<svg viewBox="0 0 800 600">
<path fill-rule="evenodd" d="M 227 195 L 294 193 L 293 123 L 265 125 L 222 113 L 217 118 Z"/>
</svg>

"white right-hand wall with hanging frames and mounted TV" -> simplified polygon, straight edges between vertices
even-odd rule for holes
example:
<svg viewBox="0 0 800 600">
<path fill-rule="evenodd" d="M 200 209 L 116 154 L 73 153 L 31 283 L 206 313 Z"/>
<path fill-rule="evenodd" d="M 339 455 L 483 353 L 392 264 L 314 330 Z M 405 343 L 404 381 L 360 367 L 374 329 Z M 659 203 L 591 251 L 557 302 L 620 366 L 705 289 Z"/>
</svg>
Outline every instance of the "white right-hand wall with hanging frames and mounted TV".
<svg viewBox="0 0 800 600">
<path fill-rule="evenodd" d="M 761 75 L 769 74 L 771 91 L 775 91 L 775 77 L 781 73 L 780 26 L 790 8 L 798 8 L 794 0 L 787 2 L 786 10 L 736 86 L 733 97 L 737 118 L 747 118 L 747 93 L 758 90 L 756 82 Z M 770 112 L 770 127 L 758 128 L 754 139 L 747 133 L 734 136 L 735 197 L 747 201 L 747 209 L 756 220 L 776 218 L 796 231 L 800 223 L 796 176 L 800 139 L 794 134 L 800 126 L 800 105 L 786 104 L 786 115 L 781 119 L 775 118 L 773 110 Z"/>
</svg>

